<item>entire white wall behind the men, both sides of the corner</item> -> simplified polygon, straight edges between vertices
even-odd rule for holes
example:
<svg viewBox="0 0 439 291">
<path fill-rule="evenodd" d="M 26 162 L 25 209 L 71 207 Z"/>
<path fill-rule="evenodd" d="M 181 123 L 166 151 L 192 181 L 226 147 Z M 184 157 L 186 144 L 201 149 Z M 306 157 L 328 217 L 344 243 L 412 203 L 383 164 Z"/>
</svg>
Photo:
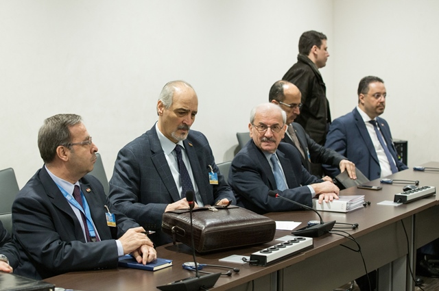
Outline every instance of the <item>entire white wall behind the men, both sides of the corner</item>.
<svg viewBox="0 0 439 291">
<path fill-rule="evenodd" d="M 193 129 L 216 162 L 231 160 L 235 133 L 248 131 L 251 107 L 296 62 L 309 29 L 329 38 L 320 71 L 333 117 L 356 105 L 361 77 L 379 75 L 389 92 L 383 117 L 409 141 L 409 165 L 437 160 L 426 150 L 438 139 L 437 12 L 427 0 L 0 1 L 0 168 L 13 167 L 22 187 L 43 164 L 44 118 L 74 112 L 110 178 L 117 151 L 156 121 L 158 93 L 172 79 L 193 85 Z"/>
</svg>

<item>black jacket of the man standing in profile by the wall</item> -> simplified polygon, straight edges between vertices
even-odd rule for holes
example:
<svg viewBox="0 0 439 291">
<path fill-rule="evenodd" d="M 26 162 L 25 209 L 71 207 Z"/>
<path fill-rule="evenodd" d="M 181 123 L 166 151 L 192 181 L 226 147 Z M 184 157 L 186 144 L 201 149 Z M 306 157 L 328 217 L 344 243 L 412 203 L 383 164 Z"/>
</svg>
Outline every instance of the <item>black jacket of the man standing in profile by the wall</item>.
<svg viewBox="0 0 439 291">
<path fill-rule="evenodd" d="M 296 64 L 289 68 L 282 79 L 296 85 L 302 93 L 303 105 L 294 122 L 302 125 L 314 141 L 323 145 L 331 123 L 331 111 L 327 87 L 318 68 L 307 55 L 299 53 Z"/>
</svg>

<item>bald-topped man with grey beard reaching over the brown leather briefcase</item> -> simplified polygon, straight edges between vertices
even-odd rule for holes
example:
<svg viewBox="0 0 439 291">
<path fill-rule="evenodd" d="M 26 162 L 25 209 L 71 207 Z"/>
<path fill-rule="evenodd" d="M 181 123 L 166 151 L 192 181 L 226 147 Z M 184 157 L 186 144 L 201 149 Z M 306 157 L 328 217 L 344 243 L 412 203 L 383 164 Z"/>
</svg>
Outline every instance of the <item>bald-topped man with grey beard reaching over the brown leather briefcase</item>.
<svg viewBox="0 0 439 291">
<path fill-rule="evenodd" d="M 199 131 L 190 130 L 198 97 L 185 81 L 167 83 L 158 98 L 158 122 L 117 155 L 110 179 L 110 200 L 137 223 L 156 230 L 156 245 L 171 242 L 161 231 L 163 213 L 187 209 L 187 190 L 195 207 L 235 203 L 232 190 L 215 164 L 211 147 Z"/>
</svg>

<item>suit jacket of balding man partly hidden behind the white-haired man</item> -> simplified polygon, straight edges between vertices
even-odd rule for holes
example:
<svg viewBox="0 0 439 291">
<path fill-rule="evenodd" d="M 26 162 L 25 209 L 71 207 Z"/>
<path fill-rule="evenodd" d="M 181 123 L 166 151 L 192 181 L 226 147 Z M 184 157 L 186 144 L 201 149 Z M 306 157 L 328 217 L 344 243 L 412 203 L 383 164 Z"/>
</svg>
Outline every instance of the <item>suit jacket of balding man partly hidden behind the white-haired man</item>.
<svg viewBox="0 0 439 291">
<path fill-rule="evenodd" d="M 309 173 L 311 173 L 311 162 L 315 164 L 329 164 L 331 166 L 339 168 L 340 162 L 342 160 L 347 160 L 346 157 L 340 155 L 340 153 L 337 153 L 332 149 L 327 149 L 325 147 L 322 147 L 320 144 L 315 142 L 305 132 L 305 129 L 303 129 L 302 125 L 298 123 L 292 123 L 292 126 L 294 128 L 294 131 L 296 131 L 297 139 L 303 151 L 305 152 L 305 155 L 309 153 L 309 157 L 307 156 L 305 158 L 302 157 L 302 155 L 300 155 L 300 160 L 302 161 L 302 165 L 307 169 Z M 294 142 L 291 140 L 291 138 L 289 138 L 289 136 L 287 136 L 286 133 L 282 142 L 287 142 L 289 144 L 292 144 L 294 147 L 296 147 Z M 309 160 L 309 158 L 311 160 Z"/>
</svg>

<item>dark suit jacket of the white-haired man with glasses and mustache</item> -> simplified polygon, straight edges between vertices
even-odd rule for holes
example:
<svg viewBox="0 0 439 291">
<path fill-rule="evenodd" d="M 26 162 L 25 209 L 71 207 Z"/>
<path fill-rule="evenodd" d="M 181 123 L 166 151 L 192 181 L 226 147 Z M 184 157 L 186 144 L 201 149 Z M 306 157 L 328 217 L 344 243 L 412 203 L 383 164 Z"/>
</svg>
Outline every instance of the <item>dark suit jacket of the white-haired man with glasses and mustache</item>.
<svg viewBox="0 0 439 291">
<path fill-rule="evenodd" d="M 253 140 L 247 142 L 235 155 L 228 175 L 228 184 L 235 191 L 237 205 L 259 214 L 300 208 L 293 203 L 268 196 L 268 191 L 276 190 L 283 197 L 312 207 L 311 190 L 306 185 L 322 180 L 307 172 L 300 163 L 300 153 L 291 144 L 281 142 L 276 154 L 289 188 L 283 191 L 277 190 L 272 168 Z"/>
</svg>

